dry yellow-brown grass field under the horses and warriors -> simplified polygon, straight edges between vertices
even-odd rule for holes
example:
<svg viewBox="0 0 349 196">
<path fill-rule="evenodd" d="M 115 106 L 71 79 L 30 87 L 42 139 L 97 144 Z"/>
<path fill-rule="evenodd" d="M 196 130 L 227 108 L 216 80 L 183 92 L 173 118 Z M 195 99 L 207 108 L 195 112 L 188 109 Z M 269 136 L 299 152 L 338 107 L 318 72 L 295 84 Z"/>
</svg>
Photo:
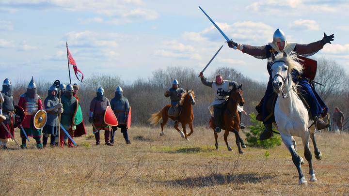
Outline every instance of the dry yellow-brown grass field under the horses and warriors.
<svg viewBox="0 0 349 196">
<path fill-rule="evenodd" d="M 172 123 L 172 122 L 170 122 Z M 298 185 L 298 173 L 284 144 L 243 149 L 233 134 L 227 151 L 223 134 L 214 150 L 212 130 L 194 127 L 190 141 L 172 128 L 131 127 L 126 145 L 117 131 L 115 146 L 95 146 L 91 128 L 76 138 L 77 149 L 38 150 L 34 140 L 21 150 L 0 151 L 1 195 L 349 195 L 349 135 L 317 133 L 323 158 L 313 165 L 317 182 Z M 15 137 L 18 142 L 19 130 Z M 245 136 L 242 134 L 242 138 Z M 104 141 L 104 134 L 101 134 Z M 300 138 L 298 152 L 303 157 Z M 49 139 L 48 139 L 49 142 Z M 102 142 L 104 144 L 104 142 Z M 313 146 L 310 144 L 312 152 Z M 309 180 L 307 162 L 302 166 Z"/>
</svg>

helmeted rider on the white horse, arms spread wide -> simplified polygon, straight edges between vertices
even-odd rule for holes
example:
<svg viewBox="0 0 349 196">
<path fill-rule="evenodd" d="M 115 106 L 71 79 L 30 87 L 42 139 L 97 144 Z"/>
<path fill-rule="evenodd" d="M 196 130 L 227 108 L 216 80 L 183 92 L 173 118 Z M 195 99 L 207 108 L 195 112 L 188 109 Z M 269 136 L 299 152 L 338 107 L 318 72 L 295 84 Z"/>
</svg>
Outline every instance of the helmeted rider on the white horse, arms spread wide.
<svg viewBox="0 0 349 196">
<path fill-rule="evenodd" d="M 233 41 L 229 41 L 228 45 L 229 47 L 238 48 L 243 53 L 247 53 L 251 56 L 254 56 L 258 59 L 270 59 L 271 54 L 274 53 L 275 55 L 280 52 L 286 52 L 287 54 L 290 54 L 291 52 L 297 53 L 297 55 L 302 55 L 305 57 L 314 55 L 317 53 L 320 49 L 323 48 L 323 46 L 327 43 L 331 44 L 331 41 L 333 41 L 333 34 L 330 36 L 327 36 L 324 33 L 324 37 L 322 40 L 319 40 L 317 42 L 313 42 L 310 44 L 296 44 L 296 43 L 288 43 L 286 41 L 285 33 L 282 30 L 277 29 L 274 32 L 273 35 L 273 42 L 269 43 L 268 45 L 263 46 L 251 46 L 251 45 L 242 45 L 235 43 Z M 273 98 L 275 97 L 275 93 L 273 93 L 273 86 L 272 81 L 273 78 L 271 78 L 271 63 L 268 61 L 267 63 L 267 70 L 270 75 L 268 87 L 265 92 L 265 95 L 263 99 L 261 100 L 260 104 L 256 106 L 256 109 L 259 113 L 262 113 L 262 119 L 263 123 L 265 125 L 265 129 L 263 133 L 260 135 L 259 139 L 268 139 L 272 136 L 272 122 L 274 121 L 274 118 L 270 116 L 272 113 L 270 100 L 272 102 Z M 293 72 L 292 75 L 293 80 L 295 83 L 298 82 L 300 85 L 300 89 L 303 92 L 306 92 L 306 95 L 304 95 L 306 101 L 308 102 L 310 106 L 310 111 L 313 116 L 313 121 L 315 122 L 315 126 L 317 130 L 321 130 L 324 128 L 329 127 L 329 124 L 326 124 L 324 121 L 320 120 L 321 114 L 325 114 L 328 111 L 328 107 L 325 105 L 325 103 L 322 101 L 322 99 L 318 96 L 317 92 L 311 88 L 310 84 L 308 83 L 308 80 L 298 72 Z"/>
</svg>

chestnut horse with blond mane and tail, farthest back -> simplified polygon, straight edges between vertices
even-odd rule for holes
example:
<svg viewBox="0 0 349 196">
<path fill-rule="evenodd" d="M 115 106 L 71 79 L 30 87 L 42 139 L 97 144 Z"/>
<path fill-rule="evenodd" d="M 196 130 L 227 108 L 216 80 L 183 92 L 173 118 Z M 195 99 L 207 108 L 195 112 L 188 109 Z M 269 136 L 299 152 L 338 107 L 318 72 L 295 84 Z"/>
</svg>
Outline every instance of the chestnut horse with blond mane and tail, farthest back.
<svg viewBox="0 0 349 196">
<path fill-rule="evenodd" d="M 174 128 L 181 134 L 182 137 L 186 138 L 188 141 L 188 137 L 193 133 L 192 121 L 194 120 L 194 114 L 192 112 L 192 106 L 195 105 L 195 94 L 194 90 L 187 90 L 181 97 L 179 101 L 179 106 L 181 107 L 181 112 L 179 114 L 178 123 L 174 125 Z M 175 117 L 168 116 L 168 110 L 171 107 L 171 104 L 163 107 L 158 113 L 151 114 L 152 116 L 148 119 L 150 124 L 158 124 L 158 122 L 162 119 L 161 124 L 161 133 L 160 136 L 165 135 L 164 126 L 167 123 L 168 119 L 172 119 L 175 121 Z M 183 132 L 178 128 L 179 122 L 182 123 Z M 190 133 L 187 134 L 186 124 L 189 124 Z"/>
</svg>

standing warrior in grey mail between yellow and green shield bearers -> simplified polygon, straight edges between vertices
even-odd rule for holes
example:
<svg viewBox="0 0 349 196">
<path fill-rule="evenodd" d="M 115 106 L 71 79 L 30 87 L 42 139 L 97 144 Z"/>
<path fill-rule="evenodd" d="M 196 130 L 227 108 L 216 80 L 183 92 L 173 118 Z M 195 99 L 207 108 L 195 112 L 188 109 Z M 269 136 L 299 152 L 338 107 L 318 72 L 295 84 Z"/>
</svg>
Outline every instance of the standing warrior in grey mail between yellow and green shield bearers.
<svg viewBox="0 0 349 196">
<path fill-rule="evenodd" d="M 53 85 L 48 89 L 48 96 L 44 101 L 45 110 L 47 112 L 47 121 L 43 128 L 43 148 L 46 148 L 48 136 L 51 135 L 51 147 L 55 146 L 56 136 L 58 136 L 58 114 L 62 114 L 63 106 L 59 103 L 56 96 L 57 89 Z"/>
</svg>

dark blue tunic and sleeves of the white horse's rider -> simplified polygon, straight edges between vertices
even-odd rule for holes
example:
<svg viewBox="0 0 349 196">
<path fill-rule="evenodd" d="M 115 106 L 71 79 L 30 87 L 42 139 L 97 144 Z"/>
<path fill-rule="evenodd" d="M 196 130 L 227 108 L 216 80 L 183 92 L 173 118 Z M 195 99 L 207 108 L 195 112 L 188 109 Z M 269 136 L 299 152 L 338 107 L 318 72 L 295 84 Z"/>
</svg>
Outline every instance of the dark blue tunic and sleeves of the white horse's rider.
<svg viewBox="0 0 349 196">
<path fill-rule="evenodd" d="M 320 49 L 322 49 L 322 47 L 323 46 L 320 44 L 320 41 L 313 42 L 310 44 L 304 44 L 304 45 L 296 44 L 296 43 L 287 43 L 283 51 L 285 51 L 287 54 L 290 54 L 290 52 L 296 52 L 297 55 L 308 57 L 317 53 Z M 242 52 L 247 53 L 251 56 L 254 56 L 257 59 L 270 59 L 272 53 L 276 55 L 281 51 L 276 45 L 274 45 L 273 43 L 269 43 L 268 45 L 264 45 L 264 46 L 243 45 Z M 274 97 L 272 96 L 274 90 L 272 86 L 273 79 L 271 78 L 271 70 L 270 70 L 271 65 L 272 64 L 270 64 L 270 62 L 268 61 L 267 70 L 270 77 L 269 77 L 267 90 L 260 104 L 256 106 L 256 110 L 258 111 L 258 113 L 263 114 L 263 121 L 270 115 L 270 111 L 268 111 L 267 109 L 268 100 L 270 99 L 270 97 Z M 293 81 L 296 83 L 298 82 L 298 84 L 301 86 L 301 91 L 303 92 L 303 94 L 305 95 L 305 98 L 307 99 L 312 115 L 313 116 L 317 116 L 319 114 L 326 115 L 326 112 L 328 111 L 328 107 L 324 104 L 324 102 L 318 96 L 317 92 L 311 88 L 306 78 L 303 75 L 299 74 L 298 72 L 293 72 L 291 74 L 294 76 Z M 274 121 L 273 118 L 269 118 L 268 120 L 264 121 L 264 124 L 270 124 L 273 121 Z"/>
</svg>

